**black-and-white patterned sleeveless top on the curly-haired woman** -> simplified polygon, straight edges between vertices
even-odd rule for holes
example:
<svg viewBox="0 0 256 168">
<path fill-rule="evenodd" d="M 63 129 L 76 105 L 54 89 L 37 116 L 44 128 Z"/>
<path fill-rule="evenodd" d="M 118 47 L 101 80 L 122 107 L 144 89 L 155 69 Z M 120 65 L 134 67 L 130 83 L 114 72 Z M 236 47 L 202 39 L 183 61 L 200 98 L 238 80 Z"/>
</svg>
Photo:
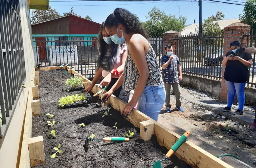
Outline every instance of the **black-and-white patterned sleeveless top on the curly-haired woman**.
<svg viewBox="0 0 256 168">
<path fill-rule="evenodd" d="M 149 51 L 146 54 L 146 60 L 148 63 L 149 77 L 147 85 L 149 86 L 158 86 L 163 85 L 163 79 L 161 75 L 160 68 L 158 66 L 157 58 L 154 49 L 151 44 L 143 37 L 149 45 Z M 133 59 L 130 55 L 128 49 L 128 56 L 124 65 L 124 73 L 123 73 L 123 90 L 130 91 L 134 90 L 137 86 L 139 80 L 139 70 L 137 69 Z"/>
</svg>

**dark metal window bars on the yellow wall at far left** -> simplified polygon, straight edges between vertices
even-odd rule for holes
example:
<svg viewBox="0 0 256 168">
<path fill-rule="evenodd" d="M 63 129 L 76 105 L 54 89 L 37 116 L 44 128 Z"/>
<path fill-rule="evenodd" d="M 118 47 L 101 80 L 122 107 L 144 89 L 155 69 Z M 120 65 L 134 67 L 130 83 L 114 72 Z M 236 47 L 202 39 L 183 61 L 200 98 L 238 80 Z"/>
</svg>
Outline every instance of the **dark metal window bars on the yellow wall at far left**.
<svg viewBox="0 0 256 168">
<path fill-rule="evenodd" d="M 26 79 L 18 0 L 0 1 L 0 139 L 4 136 Z"/>
</svg>

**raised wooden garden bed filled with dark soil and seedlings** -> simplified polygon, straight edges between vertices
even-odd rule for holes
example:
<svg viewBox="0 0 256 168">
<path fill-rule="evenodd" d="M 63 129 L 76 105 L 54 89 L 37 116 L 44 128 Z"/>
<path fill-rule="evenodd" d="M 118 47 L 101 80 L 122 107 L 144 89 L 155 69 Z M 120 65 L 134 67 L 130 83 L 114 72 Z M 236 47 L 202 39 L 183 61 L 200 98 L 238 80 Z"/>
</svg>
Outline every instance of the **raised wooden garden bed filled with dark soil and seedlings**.
<svg viewBox="0 0 256 168">
<path fill-rule="evenodd" d="M 64 79 L 70 75 L 64 74 L 62 70 L 55 71 L 56 68 L 40 67 L 40 70 L 54 71 L 42 73 L 40 71 L 41 116 L 33 117 L 32 137 L 43 136 L 46 165 L 39 164 L 35 167 L 152 167 L 153 162 L 164 158 L 167 149 L 170 149 L 180 138 L 178 134 L 138 110 L 133 110 L 127 120 L 123 119 L 119 111 L 125 104 L 114 96 L 108 100 L 109 106 L 112 107 L 111 116 L 102 117 L 103 112 L 107 111 L 107 106 L 101 107 L 95 104 L 89 107 L 58 109 L 58 100 L 65 95 L 70 95 L 70 92 L 63 91 L 62 88 Z M 71 74 L 77 74 L 69 67 L 64 69 Z M 90 81 L 84 77 L 83 79 L 87 87 Z M 96 93 L 99 90 L 101 88 L 95 86 L 92 92 Z M 72 94 L 76 93 L 81 91 L 72 92 Z M 92 95 L 85 94 L 85 96 L 88 98 Z M 94 102 L 97 101 L 98 98 L 94 98 Z M 46 113 L 52 113 L 55 118 L 48 119 L 48 116 L 45 116 Z M 48 120 L 55 120 L 55 125 L 48 127 L 46 124 Z M 117 129 L 113 128 L 115 122 L 117 122 Z M 85 127 L 79 126 L 81 123 L 84 123 Z M 56 131 L 56 137 L 47 134 L 52 129 Z M 30 131 L 27 128 L 26 130 Z M 95 134 L 95 138 L 125 137 L 128 130 L 135 133 L 129 142 L 92 141 L 88 152 L 83 148 L 85 139 L 90 134 Z M 148 141 L 144 142 L 144 140 Z M 58 144 L 61 144 L 60 150 L 63 150 L 63 153 L 52 159 L 50 156 L 55 152 L 53 148 L 58 147 Z M 176 151 L 175 155 L 164 161 L 163 167 L 231 167 L 189 142 L 189 139 Z"/>
</svg>

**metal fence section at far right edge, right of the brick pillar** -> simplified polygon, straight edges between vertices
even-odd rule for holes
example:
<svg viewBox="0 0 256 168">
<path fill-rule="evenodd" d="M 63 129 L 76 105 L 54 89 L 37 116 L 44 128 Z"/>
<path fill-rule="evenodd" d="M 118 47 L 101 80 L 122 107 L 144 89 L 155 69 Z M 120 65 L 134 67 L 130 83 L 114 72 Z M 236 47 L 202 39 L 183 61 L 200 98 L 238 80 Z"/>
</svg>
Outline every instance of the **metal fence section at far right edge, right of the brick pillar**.
<svg viewBox="0 0 256 168">
<path fill-rule="evenodd" d="M 248 35 L 243 37 L 247 38 L 246 47 L 256 47 L 256 30 L 251 30 L 251 33 L 248 32 Z M 256 88 L 256 70 L 255 70 L 255 53 L 252 54 L 252 65 L 249 67 L 249 82 L 247 82 L 248 87 Z"/>
</svg>

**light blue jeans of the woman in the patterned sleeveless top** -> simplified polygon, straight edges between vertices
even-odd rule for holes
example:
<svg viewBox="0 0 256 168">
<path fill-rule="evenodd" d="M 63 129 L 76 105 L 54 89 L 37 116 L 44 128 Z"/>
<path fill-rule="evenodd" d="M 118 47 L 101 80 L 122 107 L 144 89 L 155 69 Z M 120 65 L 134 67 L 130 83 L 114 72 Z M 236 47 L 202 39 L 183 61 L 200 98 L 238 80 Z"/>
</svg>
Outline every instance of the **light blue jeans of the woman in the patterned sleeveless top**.
<svg viewBox="0 0 256 168">
<path fill-rule="evenodd" d="M 157 121 L 158 115 L 164 105 L 165 89 L 164 85 L 146 85 L 138 101 L 138 110 Z"/>
</svg>

